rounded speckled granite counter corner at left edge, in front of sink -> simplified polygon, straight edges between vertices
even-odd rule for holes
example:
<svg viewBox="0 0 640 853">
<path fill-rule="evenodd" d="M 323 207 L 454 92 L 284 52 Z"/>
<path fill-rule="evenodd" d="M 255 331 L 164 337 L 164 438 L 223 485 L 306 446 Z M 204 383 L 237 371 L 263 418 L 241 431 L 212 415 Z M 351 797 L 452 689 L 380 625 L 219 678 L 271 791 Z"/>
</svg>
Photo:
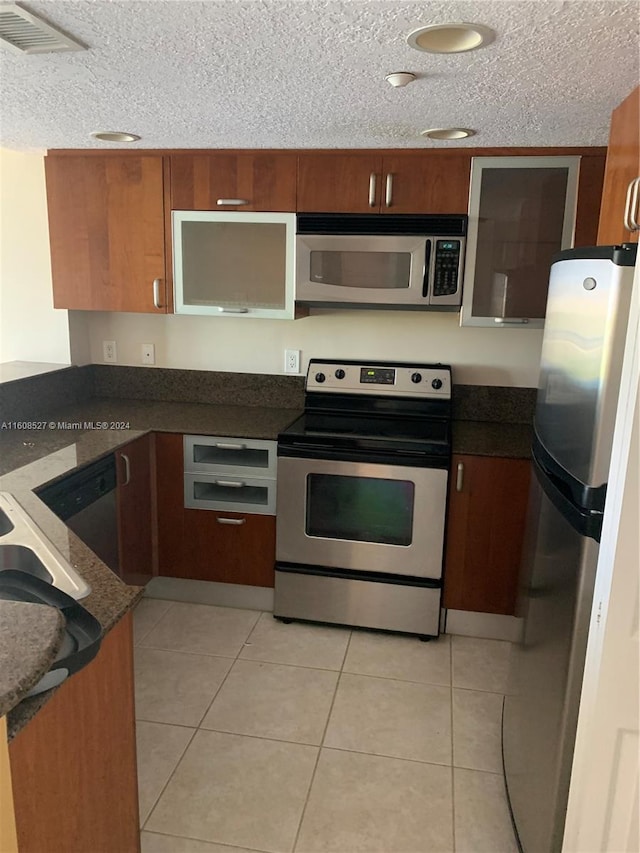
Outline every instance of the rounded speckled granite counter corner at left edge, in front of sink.
<svg viewBox="0 0 640 853">
<path fill-rule="evenodd" d="M 0 717 L 49 671 L 64 625 L 55 607 L 0 601 Z"/>
</svg>

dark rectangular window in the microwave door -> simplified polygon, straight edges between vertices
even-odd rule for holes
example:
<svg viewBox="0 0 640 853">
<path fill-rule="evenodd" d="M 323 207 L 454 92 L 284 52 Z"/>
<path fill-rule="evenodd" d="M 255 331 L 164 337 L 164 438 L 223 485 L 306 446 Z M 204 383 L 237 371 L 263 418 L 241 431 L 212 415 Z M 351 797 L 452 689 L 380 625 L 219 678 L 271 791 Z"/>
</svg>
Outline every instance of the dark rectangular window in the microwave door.
<svg viewBox="0 0 640 853">
<path fill-rule="evenodd" d="M 411 283 L 411 252 L 311 252 L 311 281 L 398 290 Z"/>
</svg>

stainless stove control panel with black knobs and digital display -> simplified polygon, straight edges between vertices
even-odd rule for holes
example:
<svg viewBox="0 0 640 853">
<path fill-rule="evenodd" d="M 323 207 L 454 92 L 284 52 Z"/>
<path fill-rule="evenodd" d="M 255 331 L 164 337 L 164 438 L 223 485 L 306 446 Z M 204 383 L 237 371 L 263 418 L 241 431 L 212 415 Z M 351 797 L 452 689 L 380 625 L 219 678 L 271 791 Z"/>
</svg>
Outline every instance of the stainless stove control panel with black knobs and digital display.
<svg viewBox="0 0 640 853">
<path fill-rule="evenodd" d="M 448 400 L 451 367 L 446 364 L 311 359 L 307 392 L 374 394 Z"/>
</svg>

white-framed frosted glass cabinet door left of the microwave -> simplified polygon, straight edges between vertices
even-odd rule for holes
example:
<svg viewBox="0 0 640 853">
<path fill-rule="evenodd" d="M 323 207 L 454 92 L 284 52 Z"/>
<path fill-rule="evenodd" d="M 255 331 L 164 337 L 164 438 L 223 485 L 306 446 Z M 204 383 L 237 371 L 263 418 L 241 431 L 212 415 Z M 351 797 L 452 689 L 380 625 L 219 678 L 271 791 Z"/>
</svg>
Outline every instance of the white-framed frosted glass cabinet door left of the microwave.
<svg viewBox="0 0 640 853">
<path fill-rule="evenodd" d="M 293 317 L 295 214 L 172 218 L 176 314 Z"/>
</svg>

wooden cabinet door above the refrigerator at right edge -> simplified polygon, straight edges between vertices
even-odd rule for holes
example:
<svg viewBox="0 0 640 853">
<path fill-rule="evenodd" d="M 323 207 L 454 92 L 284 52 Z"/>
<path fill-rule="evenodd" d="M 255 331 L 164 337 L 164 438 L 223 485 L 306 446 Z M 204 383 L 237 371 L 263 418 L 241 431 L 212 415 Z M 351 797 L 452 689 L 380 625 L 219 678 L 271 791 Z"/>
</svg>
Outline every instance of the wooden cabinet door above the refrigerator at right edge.
<svg viewBox="0 0 640 853">
<path fill-rule="evenodd" d="M 627 193 L 640 178 L 640 86 L 613 111 L 604 192 L 600 210 L 598 245 L 638 241 L 638 230 L 629 230 L 629 213 L 625 223 Z M 640 180 L 638 180 L 640 183 Z M 640 190 L 636 184 L 636 203 L 631 218 L 640 221 Z M 633 187 L 631 187 L 633 193 Z M 631 195 L 631 194 L 630 194 Z M 631 198 L 629 198 L 629 202 Z"/>
</svg>

